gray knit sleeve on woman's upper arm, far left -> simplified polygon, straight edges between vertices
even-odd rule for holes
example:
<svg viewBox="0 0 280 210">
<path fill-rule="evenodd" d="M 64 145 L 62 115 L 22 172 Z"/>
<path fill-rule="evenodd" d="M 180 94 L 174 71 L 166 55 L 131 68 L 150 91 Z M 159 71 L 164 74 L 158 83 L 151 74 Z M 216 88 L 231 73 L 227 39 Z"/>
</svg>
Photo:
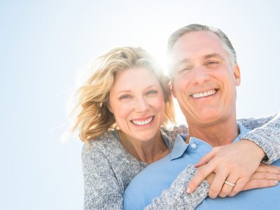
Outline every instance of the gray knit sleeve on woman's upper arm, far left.
<svg viewBox="0 0 280 210">
<path fill-rule="evenodd" d="M 106 155 L 83 146 L 84 209 L 123 209 L 123 190 Z"/>
</svg>

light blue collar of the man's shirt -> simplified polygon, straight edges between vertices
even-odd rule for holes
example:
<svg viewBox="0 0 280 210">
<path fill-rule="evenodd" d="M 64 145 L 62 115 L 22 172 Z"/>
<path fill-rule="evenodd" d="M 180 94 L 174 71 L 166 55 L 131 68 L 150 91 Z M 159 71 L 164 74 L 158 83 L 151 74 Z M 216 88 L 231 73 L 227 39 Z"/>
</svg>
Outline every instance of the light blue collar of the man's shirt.
<svg viewBox="0 0 280 210">
<path fill-rule="evenodd" d="M 249 130 L 246 129 L 246 127 L 244 127 L 241 123 L 237 122 L 237 125 L 239 127 L 239 135 L 235 138 L 233 142 L 237 142 L 241 139 L 241 137 L 244 136 L 244 134 L 246 134 Z M 190 144 L 192 144 L 192 142 L 196 142 L 199 144 L 201 144 L 202 146 L 204 146 L 204 149 L 207 151 L 211 151 L 211 149 L 213 148 L 210 144 L 207 144 L 205 141 L 203 141 L 202 139 L 198 139 L 195 137 L 190 137 L 190 144 L 186 143 L 186 140 L 188 137 L 188 134 L 183 134 L 180 135 L 178 134 L 176 137 L 176 140 L 174 142 L 174 147 L 172 150 L 172 153 L 170 154 L 170 159 L 174 160 L 176 158 L 180 158 L 183 153 L 185 153 L 185 151 L 187 151 L 188 146 L 190 146 Z"/>
</svg>

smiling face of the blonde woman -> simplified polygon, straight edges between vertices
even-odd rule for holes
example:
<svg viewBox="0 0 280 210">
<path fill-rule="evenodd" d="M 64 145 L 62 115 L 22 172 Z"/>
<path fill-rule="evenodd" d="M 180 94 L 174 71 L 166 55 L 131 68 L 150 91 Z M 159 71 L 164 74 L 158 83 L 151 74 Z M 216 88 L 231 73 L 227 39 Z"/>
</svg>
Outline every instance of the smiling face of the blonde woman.
<svg viewBox="0 0 280 210">
<path fill-rule="evenodd" d="M 153 140 L 165 118 L 165 100 L 158 79 L 144 67 L 117 73 L 110 91 L 110 109 L 127 138 Z"/>
</svg>

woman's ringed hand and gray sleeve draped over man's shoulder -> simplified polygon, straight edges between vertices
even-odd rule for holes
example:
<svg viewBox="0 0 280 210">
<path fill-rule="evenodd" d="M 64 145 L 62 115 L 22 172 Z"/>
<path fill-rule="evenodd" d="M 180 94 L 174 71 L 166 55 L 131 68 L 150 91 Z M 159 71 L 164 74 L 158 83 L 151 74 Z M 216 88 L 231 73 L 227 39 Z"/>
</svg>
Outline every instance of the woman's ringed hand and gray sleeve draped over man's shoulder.
<svg viewBox="0 0 280 210">
<path fill-rule="evenodd" d="M 189 183 L 191 192 L 205 177 L 215 172 L 218 176 L 211 185 L 209 196 L 236 195 L 248 182 L 261 160 L 273 162 L 280 158 L 280 113 L 267 118 L 241 119 L 239 122 L 244 127 L 255 130 L 245 134 L 236 144 L 216 147 L 204 156 L 196 165 L 203 169 Z M 263 159 L 265 155 L 267 158 Z M 230 176 L 238 180 L 235 188 L 223 186 L 225 179 Z"/>
</svg>

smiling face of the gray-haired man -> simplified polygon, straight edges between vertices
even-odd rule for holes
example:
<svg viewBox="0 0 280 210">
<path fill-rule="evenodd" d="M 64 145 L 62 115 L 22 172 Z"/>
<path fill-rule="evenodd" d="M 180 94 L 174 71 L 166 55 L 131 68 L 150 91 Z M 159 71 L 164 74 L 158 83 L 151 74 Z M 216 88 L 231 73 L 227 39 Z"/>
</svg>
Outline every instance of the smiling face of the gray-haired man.
<svg viewBox="0 0 280 210">
<path fill-rule="evenodd" d="M 189 125 L 235 118 L 239 67 L 232 66 L 216 34 L 195 31 L 181 36 L 172 50 L 172 62 L 172 92 Z"/>
</svg>

